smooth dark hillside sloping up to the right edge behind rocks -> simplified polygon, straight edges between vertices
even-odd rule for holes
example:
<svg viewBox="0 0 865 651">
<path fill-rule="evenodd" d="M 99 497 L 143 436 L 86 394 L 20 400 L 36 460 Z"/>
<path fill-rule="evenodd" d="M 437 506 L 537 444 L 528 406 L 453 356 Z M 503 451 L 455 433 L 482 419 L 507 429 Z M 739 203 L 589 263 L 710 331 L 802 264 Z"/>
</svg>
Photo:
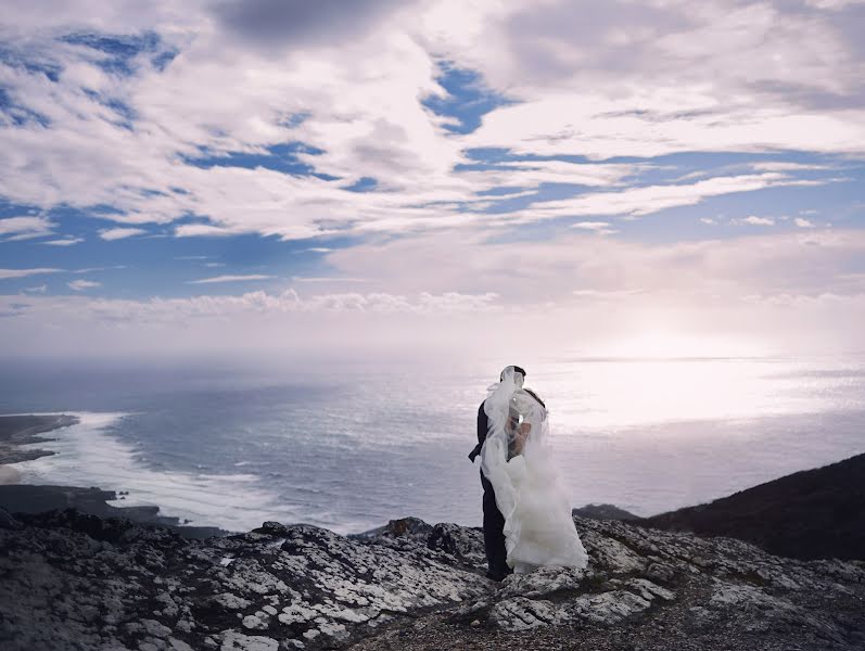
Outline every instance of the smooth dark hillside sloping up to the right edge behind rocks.
<svg viewBox="0 0 865 651">
<path fill-rule="evenodd" d="M 865 455 L 641 521 L 796 559 L 865 559 Z"/>
</svg>

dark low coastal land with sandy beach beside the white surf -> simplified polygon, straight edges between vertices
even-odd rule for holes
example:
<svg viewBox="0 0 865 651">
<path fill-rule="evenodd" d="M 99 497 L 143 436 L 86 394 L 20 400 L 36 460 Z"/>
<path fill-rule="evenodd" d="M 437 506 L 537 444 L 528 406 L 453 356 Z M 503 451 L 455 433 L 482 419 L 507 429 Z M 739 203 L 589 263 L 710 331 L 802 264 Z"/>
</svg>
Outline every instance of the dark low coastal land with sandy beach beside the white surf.
<svg viewBox="0 0 865 651">
<path fill-rule="evenodd" d="M 109 502 L 115 501 L 117 494 L 97 486 L 22 484 L 22 473 L 14 468 L 14 463 L 56 452 L 39 448 L 24 450 L 20 446 L 52 441 L 40 434 L 79 422 L 79 418 L 65 413 L 0 414 L 0 511 L 33 514 L 76 509 L 100 518 L 126 518 L 138 524 L 166 526 L 187 538 L 207 538 L 228 534 L 215 526 L 185 526 L 179 518 L 161 515 L 158 506 L 115 507 Z"/>
</svg>

